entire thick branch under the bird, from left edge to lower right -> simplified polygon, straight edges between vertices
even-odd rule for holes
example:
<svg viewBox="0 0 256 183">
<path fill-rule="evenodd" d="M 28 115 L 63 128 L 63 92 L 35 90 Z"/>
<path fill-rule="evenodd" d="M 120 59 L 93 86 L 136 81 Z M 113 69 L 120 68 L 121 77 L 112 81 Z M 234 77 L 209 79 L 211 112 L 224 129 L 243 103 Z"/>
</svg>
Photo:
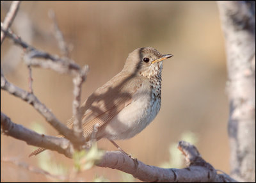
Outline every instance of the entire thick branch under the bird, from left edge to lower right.
<svg viewBox="0 0 256 183">
<path fill-rule="evenodd" d="M 56 150 L 67 157 L 72 157 L 74 152 L 67 139 L 37 134 L 11 122 L 3 113 L 1 113 L 1 129 L 4 134 L 26 141 L 29 145 Z M 180 141 L 179 149 L 186 157 L 188 168 L 149 166 L 120 151 L 106 152 L 97 166 L 121 170 L 147 182 L 236 182 L 227 174 L 217 174 L 211 164 L 200 157 L 193 145 Z"/>
</svg>

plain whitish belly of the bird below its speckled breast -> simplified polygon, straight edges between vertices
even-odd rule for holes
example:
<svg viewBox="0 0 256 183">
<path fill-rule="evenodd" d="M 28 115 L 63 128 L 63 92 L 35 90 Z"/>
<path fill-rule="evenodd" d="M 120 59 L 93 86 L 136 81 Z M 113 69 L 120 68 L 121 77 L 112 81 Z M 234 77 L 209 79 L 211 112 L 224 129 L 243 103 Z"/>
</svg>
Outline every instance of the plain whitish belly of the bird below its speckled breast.
<svg viewBox="0 0 256 183">
<path fill-rule="evenodd" d="M 154 120 L 159 112 L 161 99 L 150 102 L 152 96 L 143 92 L 137 93 L 137 96 L 102 129 L 104 137 L 113 140 L 132 138 Z"/>
</svg>

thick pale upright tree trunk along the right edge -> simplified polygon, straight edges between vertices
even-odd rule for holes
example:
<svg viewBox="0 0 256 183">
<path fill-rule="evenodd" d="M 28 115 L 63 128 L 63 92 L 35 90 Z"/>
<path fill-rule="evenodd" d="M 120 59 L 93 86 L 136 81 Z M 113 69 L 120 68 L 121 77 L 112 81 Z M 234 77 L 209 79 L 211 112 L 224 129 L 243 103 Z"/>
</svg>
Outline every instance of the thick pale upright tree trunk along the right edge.
<svg viewBox="0 0 256 183">
<path fill-rule="evenodd" d="M 255 182 L 255 1 L 218 1 L 225 35 L 231 175 Z"/>
</svg>

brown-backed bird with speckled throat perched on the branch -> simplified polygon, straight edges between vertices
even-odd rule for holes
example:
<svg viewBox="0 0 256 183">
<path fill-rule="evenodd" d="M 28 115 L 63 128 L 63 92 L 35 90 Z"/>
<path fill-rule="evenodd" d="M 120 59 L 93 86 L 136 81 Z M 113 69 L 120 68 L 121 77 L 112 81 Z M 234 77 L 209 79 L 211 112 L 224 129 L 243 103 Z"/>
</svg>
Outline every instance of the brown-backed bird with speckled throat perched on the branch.
<svg viewBox="0 0 256 183">
<path fill-rule="evenodd" d="M 79 107 L 83 114 L 84 138 L 91 138 L 96 124 L 97 141 L 106 138 L 114 145 L 114 140 L 132 138 L 145 129 L 160 110 L 163 60 L 172 56 L 152 47 L 132 51 L 122 71 L 95 90 Z M 70 129 L 73 121 L 74 117 L 67 123 Z M 38 148 L 29 157 L 44 150 Z"/>
</svg>

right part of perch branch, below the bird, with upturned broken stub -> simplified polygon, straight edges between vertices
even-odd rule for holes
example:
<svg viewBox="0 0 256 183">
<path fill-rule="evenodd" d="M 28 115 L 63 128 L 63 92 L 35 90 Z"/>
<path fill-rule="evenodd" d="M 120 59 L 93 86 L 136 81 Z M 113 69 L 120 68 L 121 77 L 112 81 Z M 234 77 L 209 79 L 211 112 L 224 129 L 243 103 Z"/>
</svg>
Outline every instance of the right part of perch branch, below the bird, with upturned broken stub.
<svg viewBox="0 0 256 183">
<path fill-rule="evenodd" d="M 106 152 L 97 166 L 124 171 L 146 182 L 237 182 L 227 174 L 217 174 L 211 164 L 200 157 L 193 145 L 180 141 L 179 149 L 186 156 L 188 168 L 149 166 L 120 151 Z"/>
</svg>

